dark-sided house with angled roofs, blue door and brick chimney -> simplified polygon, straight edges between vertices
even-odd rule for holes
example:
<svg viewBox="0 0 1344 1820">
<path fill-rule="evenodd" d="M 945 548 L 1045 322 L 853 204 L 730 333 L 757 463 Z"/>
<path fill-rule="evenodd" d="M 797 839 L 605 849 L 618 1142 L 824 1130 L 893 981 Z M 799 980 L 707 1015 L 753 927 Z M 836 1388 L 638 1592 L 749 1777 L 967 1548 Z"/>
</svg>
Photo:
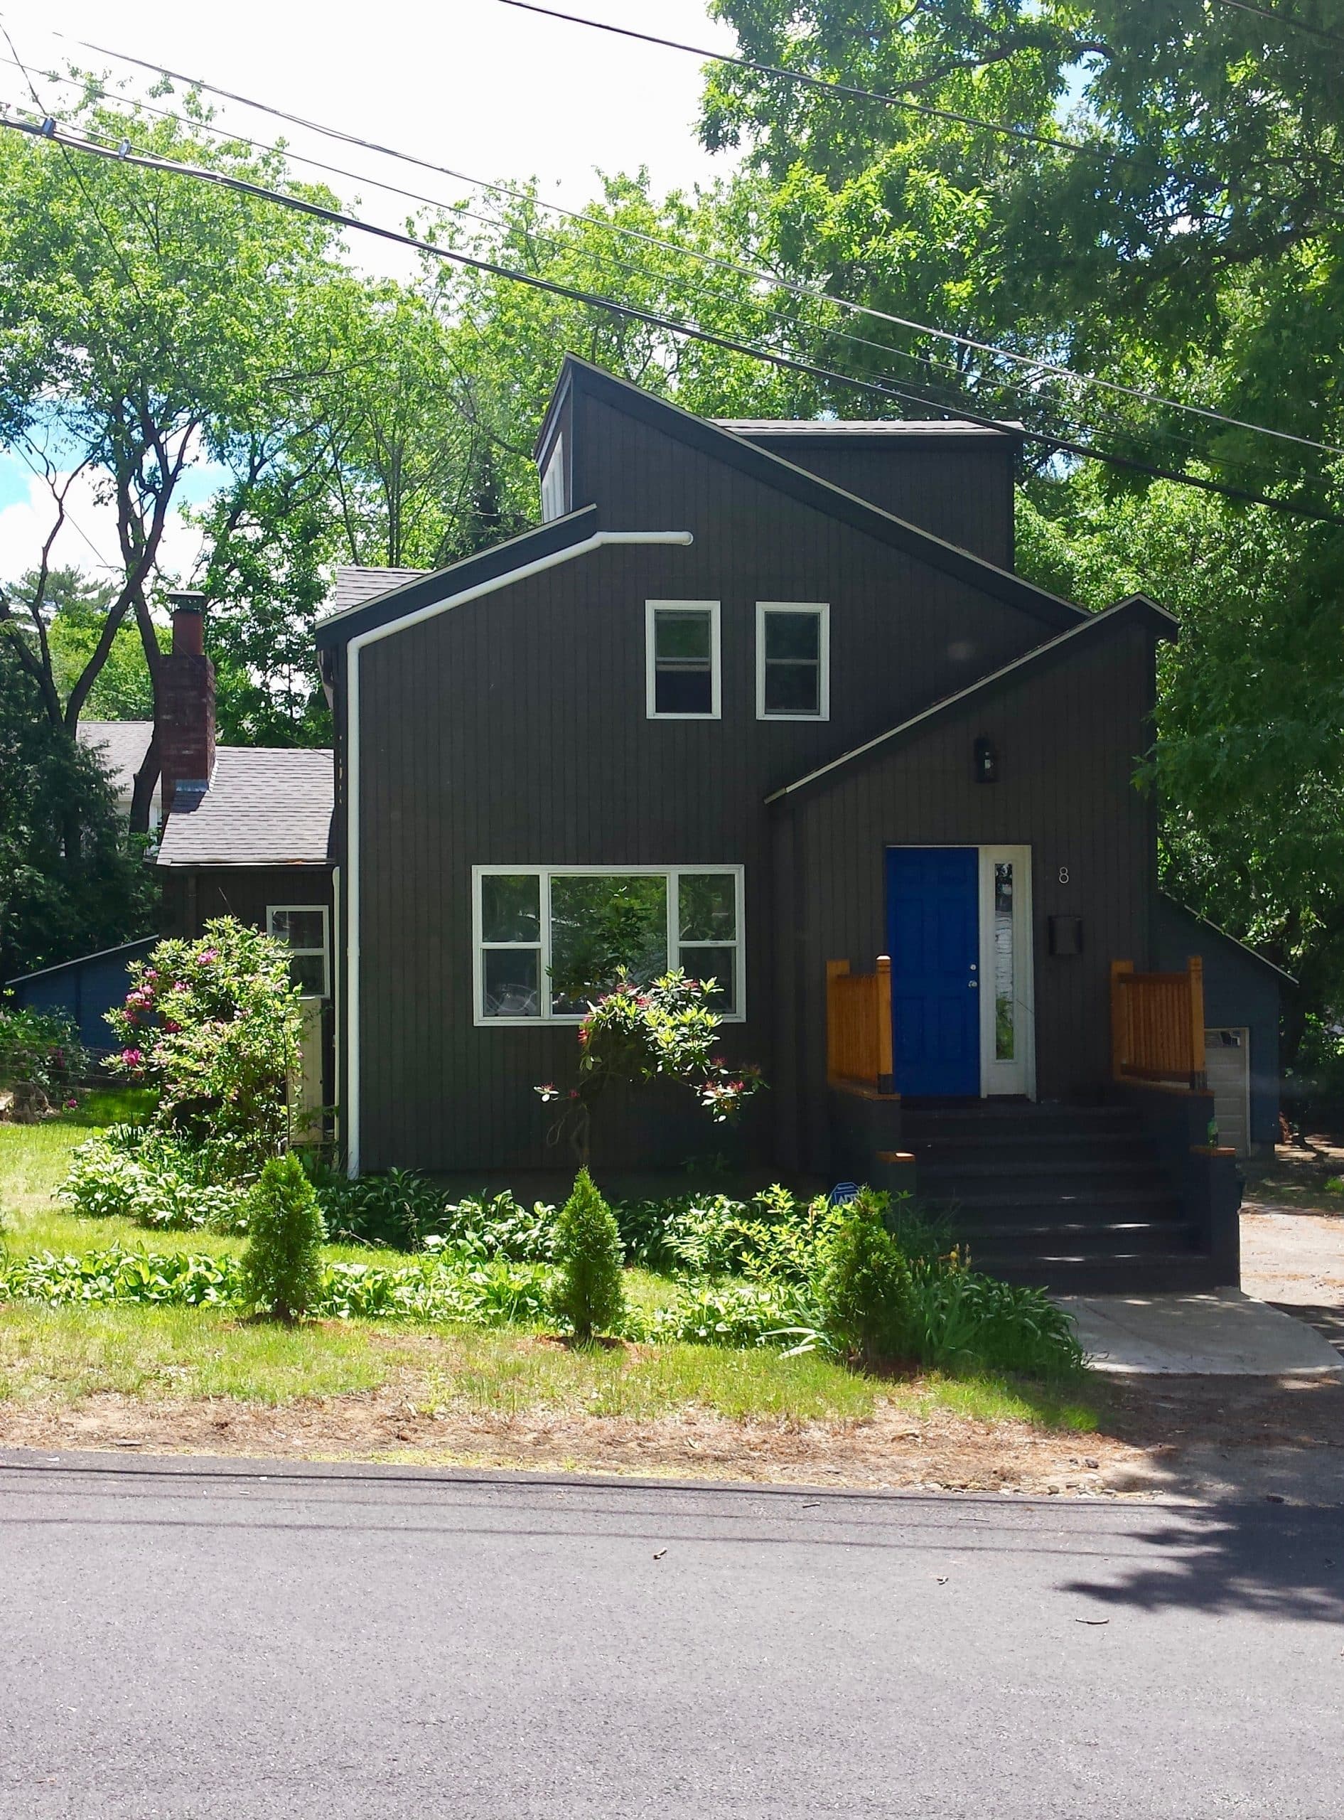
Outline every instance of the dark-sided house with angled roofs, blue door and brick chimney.
<svg viewBox="0 0 1344 1820">
<path fill-rule="evenodd" d="M 567 359 L 535 530 L 433 575 L 342 571 L 316 632 L 335 795 L 326 755 L 213 750 L 178 599 L 165 903 L 184 932 L 233 910 L 291 939 L 351 1172 L 553 1161 L 535 1088 L 573 1076 L 591 937 L 618 926 L 637 970 L 720 983 L 724 1054 L 769 1085 L 744 1165 L 917 1183 L 1026 1279 L 1237 1281 L 1213 932 L 1157 970 L 1133 784 L 1177 626 L 1015 573 L 1017 448 L 707 422 Z M 646 1094 L 595 1161 L 715 1139 Z"/>
</svg>

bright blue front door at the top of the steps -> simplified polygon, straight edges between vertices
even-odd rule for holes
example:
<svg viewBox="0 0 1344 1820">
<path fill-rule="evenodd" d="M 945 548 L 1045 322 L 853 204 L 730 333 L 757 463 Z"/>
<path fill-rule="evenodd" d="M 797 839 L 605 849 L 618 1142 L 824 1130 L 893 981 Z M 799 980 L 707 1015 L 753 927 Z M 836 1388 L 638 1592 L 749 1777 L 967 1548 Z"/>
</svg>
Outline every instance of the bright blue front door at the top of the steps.
<svg viewBox="0 0 1344 1820">
<path fill-rule="evenodd" d="M 888 848 L 898 1094 L 980 1094 L 978 888 L 975 846 Z"/>
</svg>

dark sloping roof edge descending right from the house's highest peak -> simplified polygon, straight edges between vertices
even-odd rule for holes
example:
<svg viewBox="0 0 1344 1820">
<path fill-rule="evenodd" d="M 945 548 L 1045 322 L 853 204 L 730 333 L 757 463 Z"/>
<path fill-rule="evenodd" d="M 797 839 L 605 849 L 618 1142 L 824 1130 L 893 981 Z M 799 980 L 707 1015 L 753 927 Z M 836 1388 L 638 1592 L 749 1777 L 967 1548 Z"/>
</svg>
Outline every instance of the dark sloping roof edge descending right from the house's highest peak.
<svg viewBox="0 0 1344 1820">
<path fill-rule="evenodd" d="M 1020 608 L 1055 632 L 1064 632 L 1080 619 L 1091 617 L 1086 608 L 1075 606 L 1071 601 L 1062 601 L 1048 588 L 1037 588 L 1035 582 L 1024 581 L 1011 570 L 1002 570 L 986 557 L 977 557 L 958 544 L 949 544 L 946 539 L 935 537 L 933 531 L 920 530 L 920 526 L 909 524 L 891 511 L 882 511 L 880 506 L 858 499 L 857 493 L 848 493 L 831 480 L 822 480 L 807 468 L 798 468 L 782 455 L 773 455 L 760 442 L 751 440 L 755 431 L 737 435 L 731 430 L 724 430 L 711 417 L 693 417 L 691 411 L 684 411 L 678 404 L 655 399 L 651 391 L 631 386 L 626 379 L 615 379 L 611 373 L 604 373 L 600 366 L 591 366 L 591 362 L 580 360 L 573 353 L 564 357 L 564 368 L 560 369 L 546 422 L 537 437 L 535 455 L 542 466 L 558 430 L 560 404 L 573 388 L 600 399 L 627 417 L 635 417 L 638 422 L 649 424 L 653 430 L 662 430 L 664 435 L 675 437 L 687 448 L 727 462 L 731 468 L 773 488 L 777 493 L 784 493 L 804 506 L 811 506 L 815 511 L 866 531 L 878 542 L 889 544 L 893 550 L 900 550 L 920 562 L 928 562 L 929 568 L 940 570 L 944 575 L 953 575 L 957 581 L 978 588 L 995 601 Z M 1013 430 L 1006 424 L 1002 431 L 989 430 L 988 433 L 1011 435 Z"/>
</svg>

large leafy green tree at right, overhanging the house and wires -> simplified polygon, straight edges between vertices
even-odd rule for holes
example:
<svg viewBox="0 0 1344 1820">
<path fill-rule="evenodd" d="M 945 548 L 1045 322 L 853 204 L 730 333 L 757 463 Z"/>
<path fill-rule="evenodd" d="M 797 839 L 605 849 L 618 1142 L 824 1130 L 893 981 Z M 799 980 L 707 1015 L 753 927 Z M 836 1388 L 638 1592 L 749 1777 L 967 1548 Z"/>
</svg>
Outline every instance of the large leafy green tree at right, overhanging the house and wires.
<svg viewBox="0 0 1344 1820">
<path fill-rule="evenodd" d="M 746 147 L 751 182 L 767 180 L 762 249 L 786 268 L 1028 360 L 1308 440 L 835 308 L 815 342 L 831 364 L 1344 517 L 1344 460 L 1331 453 L 1344 444 L 1344 46 L 1273 9 L 1204 0 L 717 0 L 715 11 L 760 62 L 913 104 L 737 69 L 709 76 L 702 135 Z M 1048 144 L 1066 138 L 1084 151 Z M 842 386 L 829 402 L 855 411 Z M 1302 977 L 1291 1059 L 1306 1012 L 1344 1006 L 1333 886 L 1344 535 L 1046 451 L 1026 486 L 1026 573 L 1093 606 L 1142 588 L 1182 619 L 1146 768 L 1164 874 Z"/>
</svg>

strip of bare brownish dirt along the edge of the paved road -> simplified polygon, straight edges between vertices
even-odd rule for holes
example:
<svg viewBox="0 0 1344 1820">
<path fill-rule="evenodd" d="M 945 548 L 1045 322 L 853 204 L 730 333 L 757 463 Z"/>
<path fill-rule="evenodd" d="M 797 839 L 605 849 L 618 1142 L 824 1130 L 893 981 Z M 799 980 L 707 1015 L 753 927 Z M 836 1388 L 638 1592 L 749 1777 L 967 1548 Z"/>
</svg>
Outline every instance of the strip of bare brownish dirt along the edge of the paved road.
<svg viewBox="0 0 1344 1820">
<path fill-rule="evenodd" d="M 849 1423 L 742 1423 L 704 1412 L 433 1414 L 406 1372 L 376 1392 L 284 1409 L 98 1394 L 0 1405 L 0 1447 L 120 1449 L 280 1460 L 531 1467 L 802 1485 L 1031 1496 L 1286 1496 L 1344 1502 L 1344 1385 L 1162 1378 L 1109 1389 L 1102 1431 L 978 1421 L 880 1403 Z"/>
</svg>

